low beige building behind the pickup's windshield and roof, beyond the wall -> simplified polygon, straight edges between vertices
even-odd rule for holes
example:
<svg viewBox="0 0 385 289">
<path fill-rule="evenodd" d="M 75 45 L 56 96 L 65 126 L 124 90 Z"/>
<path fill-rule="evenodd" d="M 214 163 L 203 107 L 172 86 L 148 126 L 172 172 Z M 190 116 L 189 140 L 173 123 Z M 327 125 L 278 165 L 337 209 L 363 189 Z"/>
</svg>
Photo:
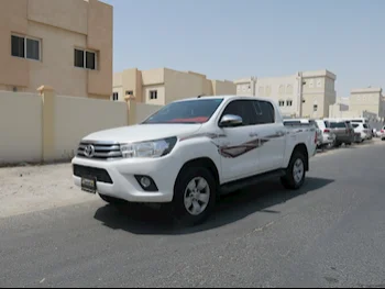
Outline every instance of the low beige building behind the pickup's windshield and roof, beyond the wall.
<svg viewBox="0 0 385 289">
<path fill-rule="evenodd" d="M 229 80 L 210 80 L 206 75 L 168 68 L 151 70 L 127 69 L 113 75 L 112 100 L 127 97 L 138 102 L 164 105 L 175 100 L 198 96 L 235 95 Z"/>
</svg>

